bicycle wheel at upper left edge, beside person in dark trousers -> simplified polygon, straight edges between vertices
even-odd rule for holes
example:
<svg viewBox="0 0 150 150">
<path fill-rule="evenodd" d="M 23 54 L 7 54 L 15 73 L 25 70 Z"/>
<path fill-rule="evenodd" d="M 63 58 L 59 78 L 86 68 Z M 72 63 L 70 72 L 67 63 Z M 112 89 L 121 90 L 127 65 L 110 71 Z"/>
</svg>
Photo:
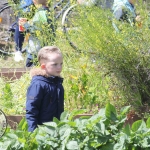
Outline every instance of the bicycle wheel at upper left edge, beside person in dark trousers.
<svg viewBox="0 0 150 150">
<path fill-rule="evenodd" d="M 12 49 L 14 48 L 13 32 L 14 26 L 10 29 L 10 26 L 14 23 L 16 17 L 13 13 L 11 6 L 7 3 L 0 8 L 0 52 L 6 55 L 13 54 Z"/>
</svg>

